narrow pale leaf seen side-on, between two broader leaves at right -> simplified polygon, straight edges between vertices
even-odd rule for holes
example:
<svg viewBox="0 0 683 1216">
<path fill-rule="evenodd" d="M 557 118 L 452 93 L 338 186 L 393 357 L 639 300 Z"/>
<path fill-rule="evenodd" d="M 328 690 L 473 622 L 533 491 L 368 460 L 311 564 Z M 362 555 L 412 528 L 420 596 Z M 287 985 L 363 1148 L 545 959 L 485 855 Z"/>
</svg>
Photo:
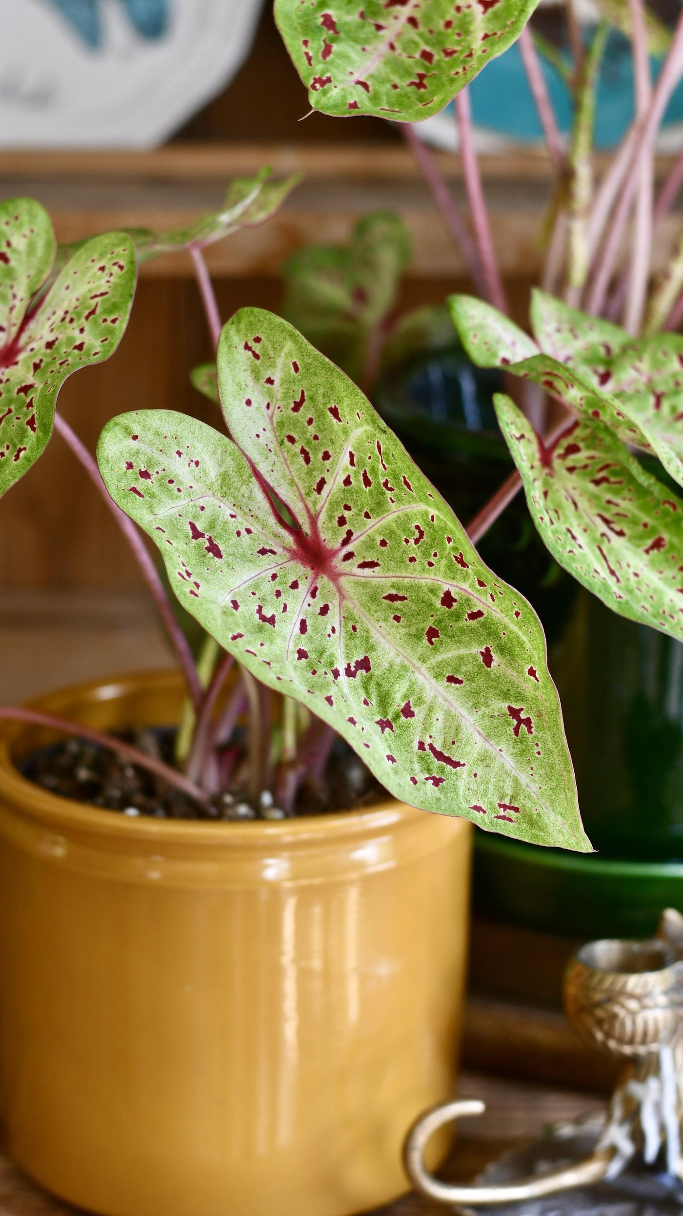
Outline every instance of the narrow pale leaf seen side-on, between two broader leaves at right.
<svg viewBox="0 0 683 1216">
<path fill-rule="evenodd" d="M 448 305 L 461 342 L 479 367 L 502 367 L 512 376 L 530 379 L 568 410 L 604 422 L 625 443 L 650 450 L 647 437 L 633 422 L 625 401 L 604 390 L 599 377 L 593 378 L 583 364 L 560 361 L 541 351 L 523 330 L 473 295 L 451 295 Z M 570 340 L 568 331 L 568 345 Z M 591 349 L 595 347 L 592 344 Z M 565 359 L 569 358 L 566 354 Z"/>
</svg>

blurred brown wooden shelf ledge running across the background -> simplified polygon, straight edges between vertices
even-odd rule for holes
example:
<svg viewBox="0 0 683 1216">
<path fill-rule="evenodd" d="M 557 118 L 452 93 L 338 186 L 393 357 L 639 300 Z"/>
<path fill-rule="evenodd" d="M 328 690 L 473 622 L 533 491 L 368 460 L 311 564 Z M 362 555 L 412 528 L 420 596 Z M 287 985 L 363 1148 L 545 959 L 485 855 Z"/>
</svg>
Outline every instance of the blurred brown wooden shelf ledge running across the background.
<svg viewBox="0 0 683 1216">
<path fill-rule="evenodd" d="M 455 197 L 464 203 L 459 158 L 436 153 Z M 343 242 L 368 210 L 400 212 L 413 241 L 408 276 L 452 281 L 464 265 L 418 169 L 391 143 L 168 145 L 156 152 L 11 152 L 0 156 L 0 195 L 33 195 L 50 210 L 60 241 L 118 227 L 170 229 L 220 206 L 225 184 L 270 164 L 303 181 L 267 224 L 245 229 L 207 254 L 218 277 L 276 276 L 283 260 L 309 242 Z M 660 174 L 666 161 L 659 163 Z M 598 163 L 598 171 L 602 162 Z M 548 158 L 535 151 L 481 158 L 493 241 L 503 274 L 531 278 L 542 265 L 543 215 L 551 198 Z M 657 232 L 655 270 L 666 265 L 677 216 Z M 152 261 L 142 274 L 188 277 L 190 258 Z"/>
</svg>

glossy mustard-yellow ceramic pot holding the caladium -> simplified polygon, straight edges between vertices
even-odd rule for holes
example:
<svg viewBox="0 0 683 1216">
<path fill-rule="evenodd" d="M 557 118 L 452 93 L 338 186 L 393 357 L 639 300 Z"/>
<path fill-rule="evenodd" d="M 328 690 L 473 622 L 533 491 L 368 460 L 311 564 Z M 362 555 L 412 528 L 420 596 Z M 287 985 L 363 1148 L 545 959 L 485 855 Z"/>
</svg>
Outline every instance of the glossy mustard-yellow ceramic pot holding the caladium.
<svg viewBox="0 0 683 1216">
<path fill-rule="evenodd" d="M 174 674 L 35 705 L 173 722 Z M 406 1190 L 453 1088 L 469 824 L 388 800 L 280 823 L 56 798 L 0 736 L 1 1083 L 11 1152 L 106 1216 L 344 1216 Z"/>
</svg>

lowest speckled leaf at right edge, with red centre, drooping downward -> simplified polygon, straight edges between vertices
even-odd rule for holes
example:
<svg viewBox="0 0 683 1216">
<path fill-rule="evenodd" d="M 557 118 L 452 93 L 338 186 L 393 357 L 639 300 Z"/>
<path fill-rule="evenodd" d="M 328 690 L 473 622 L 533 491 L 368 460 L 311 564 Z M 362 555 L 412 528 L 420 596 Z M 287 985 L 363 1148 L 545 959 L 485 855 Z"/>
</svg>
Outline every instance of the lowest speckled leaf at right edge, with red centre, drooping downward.
<svg viewBox="0 0 683 1216">
<path fill-rule="evenodd" d="M 553 557 L 622 617 L 683 640 L 683 500 L 602 423 L 576 421 L 547 450 L 508 396 L 495 404 Z"/>
</svg>

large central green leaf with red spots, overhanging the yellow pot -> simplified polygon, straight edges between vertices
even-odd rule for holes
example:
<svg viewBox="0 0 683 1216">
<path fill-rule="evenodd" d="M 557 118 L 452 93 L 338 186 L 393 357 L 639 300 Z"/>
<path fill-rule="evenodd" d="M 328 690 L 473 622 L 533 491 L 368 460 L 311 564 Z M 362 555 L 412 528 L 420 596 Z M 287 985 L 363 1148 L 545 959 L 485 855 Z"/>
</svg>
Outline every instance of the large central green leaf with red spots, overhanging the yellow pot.
<svg viewBox="0 0 683 1216">
<path fill-rule="evenodd" d="M 114 418 L 98 447 L 181 603 L 396 796 L 588 850 L 530 604 L 360 389 L 286 321 L 242 309 L 218 370 L 233 441 L 154 410 Z"/>
</svg>

